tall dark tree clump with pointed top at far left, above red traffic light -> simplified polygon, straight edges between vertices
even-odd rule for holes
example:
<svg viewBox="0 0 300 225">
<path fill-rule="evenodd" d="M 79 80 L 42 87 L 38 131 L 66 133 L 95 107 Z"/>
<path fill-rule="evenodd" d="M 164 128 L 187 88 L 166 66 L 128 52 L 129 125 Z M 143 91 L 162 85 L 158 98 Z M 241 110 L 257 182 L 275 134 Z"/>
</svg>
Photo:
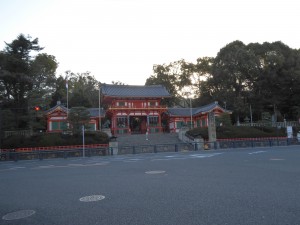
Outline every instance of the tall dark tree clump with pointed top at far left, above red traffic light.
<svg viewBox="0 0 300 225">
<path fill-rule="evenodd" d="M 0 96 L 16 128 L 32 127 L 33 106 L 50 99 L 57 62 L 54 56 L 34 54 L 41 50 L 37 38 L 20 34 L 0 52 Z"/>
</svg>

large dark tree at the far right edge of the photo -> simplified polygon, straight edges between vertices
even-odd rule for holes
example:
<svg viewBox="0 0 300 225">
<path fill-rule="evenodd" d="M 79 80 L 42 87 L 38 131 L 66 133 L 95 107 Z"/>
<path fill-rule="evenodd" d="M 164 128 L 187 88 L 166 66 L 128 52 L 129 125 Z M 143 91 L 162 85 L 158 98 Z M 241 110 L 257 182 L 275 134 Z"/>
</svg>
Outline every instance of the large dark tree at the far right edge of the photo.
<svg viewBox="0 0 300 225">
<path fill-rule="evenodd" d="M 253 99 L 260 112 L 274 112 L 297 119 L 293 112 L 299 106 L 300 57 L 299 50 L 282 42 L 249 44 L 259 58 L 260 74 L 253 89 Z"/>
</svg>

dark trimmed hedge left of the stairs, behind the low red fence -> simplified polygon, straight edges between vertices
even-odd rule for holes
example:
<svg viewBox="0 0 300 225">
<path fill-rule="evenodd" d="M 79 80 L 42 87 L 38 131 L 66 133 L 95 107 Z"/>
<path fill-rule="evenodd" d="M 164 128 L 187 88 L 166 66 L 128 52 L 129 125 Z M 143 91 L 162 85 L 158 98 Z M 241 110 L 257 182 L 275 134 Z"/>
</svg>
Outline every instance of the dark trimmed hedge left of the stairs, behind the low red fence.
<svg viewBox="0 0 300 225">
<path fill-rule="evenodd" d="M 103 132 L 86 132 L 85 144 L 108 144 L 109 137 Z M 1 148 L 30 148 L 30 147 L 48 147 L 82 145 L 81 135 L 66 135 L 61 133 L 41 133 L 31 137 L 10 136 L 2 140 Z"/>
</svg>

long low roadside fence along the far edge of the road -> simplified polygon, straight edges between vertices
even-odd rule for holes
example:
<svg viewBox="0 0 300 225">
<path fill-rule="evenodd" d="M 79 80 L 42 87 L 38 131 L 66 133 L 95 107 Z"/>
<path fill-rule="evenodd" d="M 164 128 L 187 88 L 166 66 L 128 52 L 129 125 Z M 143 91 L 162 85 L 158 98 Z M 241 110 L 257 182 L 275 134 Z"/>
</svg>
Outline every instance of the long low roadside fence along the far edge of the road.
<svg viewBox="0 0 300 225">
<path fill-rule="evenodd" d="M 252 139 L 219 139 L 216 142 L 190 142 L 175 144 L 157 144 L 157 145 L 138 145 L 138 146 L 119 146 L 118 154 L 141 154 L 141 153 L 162 153 L 162 152 L 189 152 L 200 150 L 220 150 L 220 149 L 246 149 L 255 147 L 274 147 L 300 145 L 297 138 L 252 138 Z M 57 148 L 60 147 L 60 148 Z M 48 158 L 68 158 L 68 157 L 90 157 L 113 155 L 113 149 L 108 145 L 82 145 L 77 146 L 56 146 L 47 147 L 47 149 L 19 148 L 2 149 L 1 160 L 23 160 L 23 159 L 48 159 Z"/>
</svg>

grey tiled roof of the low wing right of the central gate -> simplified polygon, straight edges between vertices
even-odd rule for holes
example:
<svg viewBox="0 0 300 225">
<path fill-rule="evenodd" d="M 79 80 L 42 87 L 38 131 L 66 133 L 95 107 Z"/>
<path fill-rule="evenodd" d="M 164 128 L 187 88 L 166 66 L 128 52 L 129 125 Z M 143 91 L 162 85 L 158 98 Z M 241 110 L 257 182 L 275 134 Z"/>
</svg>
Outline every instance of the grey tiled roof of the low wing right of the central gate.
<svg viewBox="0 0 300 225">
<path fill-rule="evenodd" d="M 230 113 L 231 111 L 223 109 L 218 102 L 213 102 L 208 105 L 200 106 L 197 108 L 192 108 L 192 115 L 196 115 L 202 112 L 210 112 L 215 108 L 220 108 L 224 112 Z M 191 109 L 190 108 L 169 108 L 168 113 L 170 116 L 190 116 L 191 115 Z"/>
</svg>

